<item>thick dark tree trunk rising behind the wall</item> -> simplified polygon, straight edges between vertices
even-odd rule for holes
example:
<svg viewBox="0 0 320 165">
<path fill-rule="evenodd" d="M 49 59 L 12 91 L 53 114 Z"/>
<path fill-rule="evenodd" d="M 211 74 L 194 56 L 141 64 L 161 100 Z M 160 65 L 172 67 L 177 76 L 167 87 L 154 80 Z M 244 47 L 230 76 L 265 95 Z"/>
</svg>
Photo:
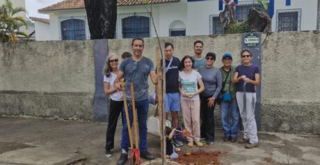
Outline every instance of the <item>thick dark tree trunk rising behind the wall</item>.
<svg viewBox="0 0 320 165">
<path fill-rule="evenodd" d="M 117 22 L 117 0 L 84 0 L 90 39 L 112 39 Z"/>
</svg>

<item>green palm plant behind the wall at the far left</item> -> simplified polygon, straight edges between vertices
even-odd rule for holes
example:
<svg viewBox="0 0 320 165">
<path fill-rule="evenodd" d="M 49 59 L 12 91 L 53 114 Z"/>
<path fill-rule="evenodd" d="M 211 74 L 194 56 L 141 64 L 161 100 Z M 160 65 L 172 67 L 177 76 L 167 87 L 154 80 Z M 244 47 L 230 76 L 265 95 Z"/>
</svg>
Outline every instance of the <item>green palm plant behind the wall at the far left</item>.
<svg viewBox="0 0 320 165">
<path fill-rule="evenodd" d="M 24 8 L 13 8 L 13 3 L 9 0 L 0 6 L 0 40 L 2 42 L 15 42 L 18 35 L 29 38 L 26 33 L 19 31 L 22 26 L 28 28 L 23 17 L 15 16 L 20 12 L 25 12 Z"/>
</svg>

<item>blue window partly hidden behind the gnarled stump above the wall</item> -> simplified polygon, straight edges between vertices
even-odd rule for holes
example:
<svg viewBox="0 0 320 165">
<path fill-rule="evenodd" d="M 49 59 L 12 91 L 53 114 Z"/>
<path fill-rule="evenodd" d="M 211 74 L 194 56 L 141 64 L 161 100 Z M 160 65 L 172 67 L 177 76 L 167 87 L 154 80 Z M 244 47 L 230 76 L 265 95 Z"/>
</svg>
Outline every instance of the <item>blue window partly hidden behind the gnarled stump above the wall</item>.
<svg viewBox="0 0 320 165">
<path fill-rule="evenodd" d="M 252 7 L 255 7 L 259 10 L 266 12 L 266 10 L 264 10 L 264 7 L 259 3 L 255 3 L 255 1 L 252 1 L 250 3 L 245 3 L 243 5 L 239 4 L 239 6 L 236 7 L 236 15 L 237 15 L 238 22 L 243 22 L 243 21 L 246 21 L 246 19 L 248 19 L 249 11 L 250 11 L 250 8 Z"/>
</svg>

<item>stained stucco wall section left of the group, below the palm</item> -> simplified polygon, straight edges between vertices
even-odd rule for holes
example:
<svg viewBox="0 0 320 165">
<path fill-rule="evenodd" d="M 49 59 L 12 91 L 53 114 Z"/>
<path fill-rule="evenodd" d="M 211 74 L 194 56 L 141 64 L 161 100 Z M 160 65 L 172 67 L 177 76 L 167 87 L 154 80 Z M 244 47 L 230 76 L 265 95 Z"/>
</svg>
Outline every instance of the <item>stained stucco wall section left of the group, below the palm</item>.
<svg viewBox="0 0 320 165">
<path fill-rule="evenodd" d="M 93 42 L 0 45 L 0 114 L 93 120 Z"/>
</svg>

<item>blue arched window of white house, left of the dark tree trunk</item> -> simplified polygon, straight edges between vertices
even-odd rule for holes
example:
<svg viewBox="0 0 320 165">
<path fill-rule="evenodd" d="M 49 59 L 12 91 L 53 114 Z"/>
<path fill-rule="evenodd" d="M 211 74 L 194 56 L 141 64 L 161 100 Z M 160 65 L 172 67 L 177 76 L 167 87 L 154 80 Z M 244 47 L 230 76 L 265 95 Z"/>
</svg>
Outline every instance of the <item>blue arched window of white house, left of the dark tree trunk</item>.
<svg viewBox="0 0 320 165">
<path fill-rule="evenodd" d="M 86 40 L 86 27 L 81 19 L 67 19 L 61 22 L 62 40 Z"/>
</svg>

